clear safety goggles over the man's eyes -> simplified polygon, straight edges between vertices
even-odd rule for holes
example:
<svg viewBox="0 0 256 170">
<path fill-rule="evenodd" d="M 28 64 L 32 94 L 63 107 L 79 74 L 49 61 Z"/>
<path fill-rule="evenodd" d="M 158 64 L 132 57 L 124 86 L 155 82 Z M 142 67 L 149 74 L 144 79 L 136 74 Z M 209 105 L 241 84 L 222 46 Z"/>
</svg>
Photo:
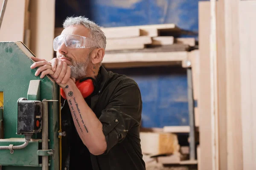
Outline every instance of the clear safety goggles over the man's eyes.
<svg viewBox="0 0 256 170">
<path fill-rule="evenodd" d="M 93 40 L 87 37 L 74 34 L 61 34 L 53 40 L 53 50 L 57 51 L 63 42 L 68 48 L 90 48 L 97 46 Z"/>
</svg>

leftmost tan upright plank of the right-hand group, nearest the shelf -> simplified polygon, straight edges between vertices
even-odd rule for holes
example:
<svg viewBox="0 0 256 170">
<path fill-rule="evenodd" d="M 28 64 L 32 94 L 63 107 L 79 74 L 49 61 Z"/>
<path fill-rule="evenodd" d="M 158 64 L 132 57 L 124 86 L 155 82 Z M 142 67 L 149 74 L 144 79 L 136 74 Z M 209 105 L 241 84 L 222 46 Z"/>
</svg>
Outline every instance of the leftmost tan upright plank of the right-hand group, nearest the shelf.
<svg viewBox="0 0 256 170">
<path fill-rule="evenodd" d="M 210 3 L 199 2 L 199 50 L 200 50 L 200 82 L 198 106 L 200 114 L 200 147 L 201 170 L 212 170 L 212 135 L 210 116 Z"/>
</svg>

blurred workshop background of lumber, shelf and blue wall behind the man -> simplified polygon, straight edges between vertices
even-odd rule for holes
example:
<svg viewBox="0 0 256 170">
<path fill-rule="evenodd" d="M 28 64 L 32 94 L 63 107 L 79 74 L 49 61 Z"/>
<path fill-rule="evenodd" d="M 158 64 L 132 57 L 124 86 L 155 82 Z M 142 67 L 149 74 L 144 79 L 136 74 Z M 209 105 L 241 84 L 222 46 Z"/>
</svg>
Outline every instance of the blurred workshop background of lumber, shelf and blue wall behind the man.
<svg viewBox="0 0 256 170">
<path fill-rule="evenodd" d="M 256 0 L 9 0 L 0 41 L 51 60 L 65 18 L 88 17 L 107 37 L 103 66 L 140 87 L 147 170 L 255 170 L 255 8 Z"/>
</svg>

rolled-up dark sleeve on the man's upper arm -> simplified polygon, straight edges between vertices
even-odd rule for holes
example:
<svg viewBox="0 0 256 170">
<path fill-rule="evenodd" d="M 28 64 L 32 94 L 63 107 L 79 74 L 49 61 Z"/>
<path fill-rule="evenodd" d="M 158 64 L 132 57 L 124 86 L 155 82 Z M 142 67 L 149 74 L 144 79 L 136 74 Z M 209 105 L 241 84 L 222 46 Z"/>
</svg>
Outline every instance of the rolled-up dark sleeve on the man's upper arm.
<svg viewBox="0 0 256 170">
<path fill-rule="evenodd" d="M 142 99 L 135 84 L 122 85 L 112 95 L 99 120 L 107 142 L 107 154 L 117 143 L 125 139 L 132 127 L 140 126 Z"/>
</svg>

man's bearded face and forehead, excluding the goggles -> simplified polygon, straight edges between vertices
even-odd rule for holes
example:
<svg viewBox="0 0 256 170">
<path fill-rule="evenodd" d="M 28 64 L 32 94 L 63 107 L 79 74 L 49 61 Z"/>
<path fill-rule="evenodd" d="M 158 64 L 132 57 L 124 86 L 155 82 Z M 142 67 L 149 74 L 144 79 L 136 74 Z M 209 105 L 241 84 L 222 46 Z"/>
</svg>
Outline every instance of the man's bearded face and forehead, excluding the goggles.
<svg viewBox="0 0 256 170">
<path fill-rule="evenodd" d="M 89 30 L 84 26 L 69 26 L 61 34 L 75 34 L 89 37 Z M 71 77 L 80 79 L 86 77 L 90 63 L 91 48 L 68 48 L 65 43 L 58 48 L 56 55 L 58 59 L 66 62 L 71 68 Z"/>
</svg>

